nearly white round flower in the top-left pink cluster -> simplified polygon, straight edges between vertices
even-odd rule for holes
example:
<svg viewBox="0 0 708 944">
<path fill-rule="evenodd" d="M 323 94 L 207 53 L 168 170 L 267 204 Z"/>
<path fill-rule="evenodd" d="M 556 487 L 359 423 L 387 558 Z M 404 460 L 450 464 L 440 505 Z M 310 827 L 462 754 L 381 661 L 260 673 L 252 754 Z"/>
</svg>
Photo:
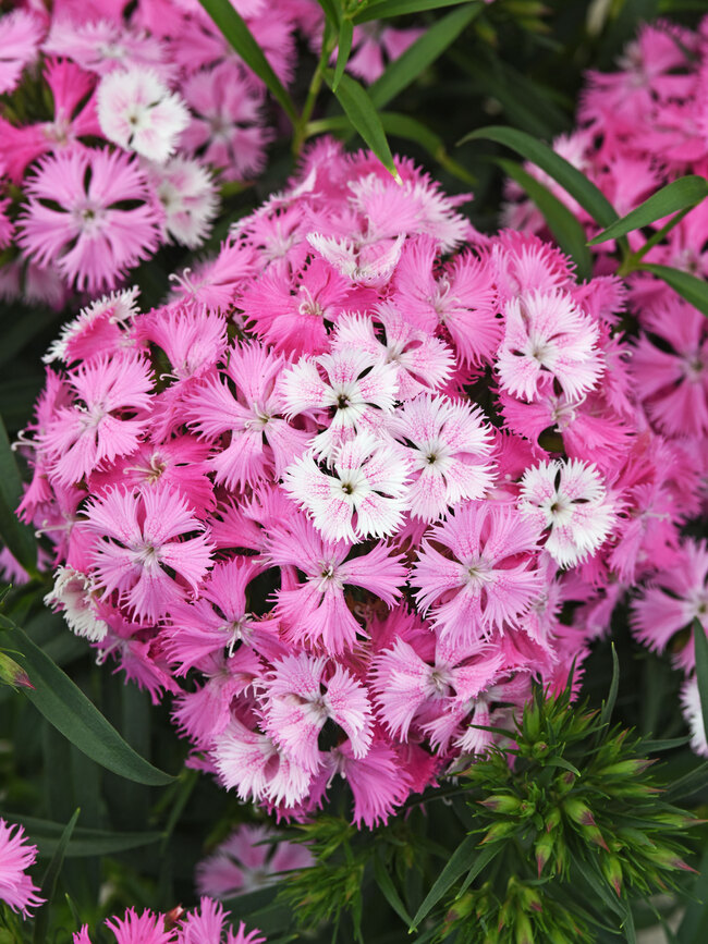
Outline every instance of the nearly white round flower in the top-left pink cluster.
<svg viewBox="0 0 708 944">
<path fill-rule="evenodd" d="M 182 98 L 157 72 L 139 65 L 111 72 L 97 93 L 98 120 L 109 140 L 156 163 L 164 163 L 190 123 Z"/>
</svg>

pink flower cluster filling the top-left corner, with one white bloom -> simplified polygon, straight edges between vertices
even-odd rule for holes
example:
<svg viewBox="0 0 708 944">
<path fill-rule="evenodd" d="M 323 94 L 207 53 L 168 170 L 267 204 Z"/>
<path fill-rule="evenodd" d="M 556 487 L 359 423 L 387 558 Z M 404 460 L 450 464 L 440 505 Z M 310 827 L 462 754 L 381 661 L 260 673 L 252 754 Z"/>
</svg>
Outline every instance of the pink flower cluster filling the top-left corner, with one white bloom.
<svg viewBox="0 0 708 944">
<path fill-rule="evenodd" d="M 290 81 L 308 3 L 235 5 Z M 263 170 L 265 86 L 197 0 L 14 4 L 0 50 L 0 297 L 114 289 L 166 243 L 204 242 L 217 176 Z"/>
</svg>

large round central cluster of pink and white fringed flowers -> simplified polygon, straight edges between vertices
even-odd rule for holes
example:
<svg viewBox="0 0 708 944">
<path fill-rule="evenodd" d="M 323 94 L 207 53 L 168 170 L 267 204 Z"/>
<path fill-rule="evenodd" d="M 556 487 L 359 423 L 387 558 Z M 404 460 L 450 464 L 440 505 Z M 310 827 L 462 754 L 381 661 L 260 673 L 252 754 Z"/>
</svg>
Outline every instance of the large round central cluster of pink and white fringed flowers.
<svg viewBox="0 0 708 944">
<path fill-rule="evenodd" d="M 398 170 L 322 139 L 164 305 L 82 311 L 20 507 L 47 601 L 172 692 L 193 765 L 294 818 L 343 779 L 368 826 L 563 687 L 699 501 L 619 280 Z"/>
</svg>

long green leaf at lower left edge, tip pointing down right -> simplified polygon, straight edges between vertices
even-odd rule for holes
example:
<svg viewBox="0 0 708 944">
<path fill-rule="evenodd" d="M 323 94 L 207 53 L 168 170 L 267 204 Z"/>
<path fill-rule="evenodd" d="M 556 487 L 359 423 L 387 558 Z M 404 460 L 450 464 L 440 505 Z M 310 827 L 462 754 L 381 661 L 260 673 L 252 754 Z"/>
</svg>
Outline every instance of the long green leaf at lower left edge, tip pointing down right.
<svg viewBox="0 0 708 944">
<path fill-rule="evenodd" d="M 174 777 L 158 770 L 136 753 L 84 692 L 23 630 L 0 617 L 10 645 L 22 653 L 34 689 L 23 694 L 57 731 L 96 763 L 119 776 L 148 786 L 172 783 Z"/>
</svg>

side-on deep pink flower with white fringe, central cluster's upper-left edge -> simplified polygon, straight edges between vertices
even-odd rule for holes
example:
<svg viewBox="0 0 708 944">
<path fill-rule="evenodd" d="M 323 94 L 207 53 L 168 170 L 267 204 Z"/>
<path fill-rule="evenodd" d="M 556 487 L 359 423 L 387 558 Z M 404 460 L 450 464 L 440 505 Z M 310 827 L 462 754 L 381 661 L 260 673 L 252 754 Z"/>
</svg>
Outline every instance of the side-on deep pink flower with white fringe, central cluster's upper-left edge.
<svg viewBox="0 0 708 944">
<path fill-rule="evenodd" d="M 45 364 L 53 360 L 73 364 L 127 347 L 130 322 L 137 315 L 138 293 L 134 285 L 111 292 L 82 308 L 73 321 L 62 326 L 59 338 L 49 345 L 41 359 Z"/>
</svg>

